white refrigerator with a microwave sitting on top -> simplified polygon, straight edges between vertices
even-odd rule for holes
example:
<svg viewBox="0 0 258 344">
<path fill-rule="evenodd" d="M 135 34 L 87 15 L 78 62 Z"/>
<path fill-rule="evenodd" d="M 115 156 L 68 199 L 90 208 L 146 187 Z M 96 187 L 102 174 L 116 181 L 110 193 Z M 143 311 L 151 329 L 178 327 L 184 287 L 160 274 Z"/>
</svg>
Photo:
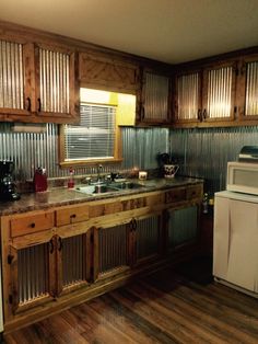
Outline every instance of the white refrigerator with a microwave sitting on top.
<svg viewBox="0 0 258 344">
<path fill-rule="evenodd" d="M 258 196 L 215 194 L 213 275 L 258 297 Z"/>
</svg>

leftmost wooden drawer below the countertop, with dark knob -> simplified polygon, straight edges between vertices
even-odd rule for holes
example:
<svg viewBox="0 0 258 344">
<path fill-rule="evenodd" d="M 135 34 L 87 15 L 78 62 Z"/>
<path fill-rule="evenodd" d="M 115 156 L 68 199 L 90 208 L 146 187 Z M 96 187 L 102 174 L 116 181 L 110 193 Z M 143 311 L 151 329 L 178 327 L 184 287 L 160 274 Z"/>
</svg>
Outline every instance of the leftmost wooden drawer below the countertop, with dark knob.
<svg viewBox="0 0 258 344">
<path fill-rule="evenodd" d="M 11 218 L 11 237 L 19 237 L 38 232 L 54 227 L 54 211 L 33 215 L 20 215 Z"/>
</svg>

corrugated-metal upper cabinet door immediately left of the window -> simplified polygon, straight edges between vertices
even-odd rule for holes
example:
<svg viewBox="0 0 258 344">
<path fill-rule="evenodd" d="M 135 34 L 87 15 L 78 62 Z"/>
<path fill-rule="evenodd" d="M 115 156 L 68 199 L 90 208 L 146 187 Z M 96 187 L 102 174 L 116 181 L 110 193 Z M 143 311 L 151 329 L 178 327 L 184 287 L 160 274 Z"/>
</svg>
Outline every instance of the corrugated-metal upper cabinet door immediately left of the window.
<svg viewBox="0 0 258 344">
<path fill-rule="evenodd" d="M 47 122 L 77 122 L 75 53 L 37 45 L 35 47 L 36 114 Z"/>
</svg>

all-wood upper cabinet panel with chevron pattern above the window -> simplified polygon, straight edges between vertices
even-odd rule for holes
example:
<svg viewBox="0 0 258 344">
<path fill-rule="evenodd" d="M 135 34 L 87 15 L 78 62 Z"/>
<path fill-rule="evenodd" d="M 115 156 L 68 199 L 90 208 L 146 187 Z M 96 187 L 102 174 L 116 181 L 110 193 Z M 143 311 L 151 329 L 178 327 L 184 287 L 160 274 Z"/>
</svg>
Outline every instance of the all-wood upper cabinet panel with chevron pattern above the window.
<svg viewBox="0 0 258 344">
<path fill-rule="evenodd" d="M 79 79 L 83 87 L 137 94 L 140 88 L 137 64 L 94 53 L 80 53 Z"/>
</svg>

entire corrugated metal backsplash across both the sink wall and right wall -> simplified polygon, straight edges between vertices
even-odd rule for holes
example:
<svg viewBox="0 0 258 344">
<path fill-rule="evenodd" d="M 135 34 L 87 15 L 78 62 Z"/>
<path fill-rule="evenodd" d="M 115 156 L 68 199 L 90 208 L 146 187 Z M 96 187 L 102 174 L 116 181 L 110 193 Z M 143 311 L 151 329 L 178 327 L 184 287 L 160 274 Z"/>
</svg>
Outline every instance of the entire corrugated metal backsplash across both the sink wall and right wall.
<svg viewBox="0 0 258 344">
<path fill-rule="evenodd" d="M 122 128 L 121 164 L 105 167 L 104 172 L 132 168 L 156 169 L 157 152 L 179 157 L 180 174 L 207 180 L 207 190 L 225 188 L 226 163 L 237 159 L 241 148 L 257 146 L 258 127 L 166 129 Z M 171 149 L 169 149 L 171 147 Z M 36 167 L 47 168 L 48 176 L 67 176 L 58 164 L 58 125 L 47 124 L 43 134 L 13 133 L 11 124 L 0 124 L 0 160 L 12 159 L 16 181 L 32 179 Z M 77 169 L 75 174 L 96 173 L 94 168 Z"/>
</svg>

